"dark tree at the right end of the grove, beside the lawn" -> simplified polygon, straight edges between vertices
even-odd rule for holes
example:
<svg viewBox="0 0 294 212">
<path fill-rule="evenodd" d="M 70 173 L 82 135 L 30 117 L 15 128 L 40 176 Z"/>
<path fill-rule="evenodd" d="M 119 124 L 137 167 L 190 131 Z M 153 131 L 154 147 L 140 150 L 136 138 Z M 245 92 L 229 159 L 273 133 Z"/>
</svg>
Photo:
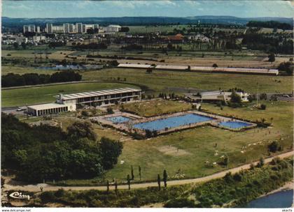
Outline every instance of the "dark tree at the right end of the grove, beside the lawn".
<svg viewBox="0 0 294 212">
<path fill-rule="evenodd" d="M 123 150 L 123 143 L 102 137 L 99 149 L 102 154 L 102 165 L 104 169 L 108 170 L 113 168 L 113 165 L 118 162 L 118 156 L 120 156 Z"/>
</svg>

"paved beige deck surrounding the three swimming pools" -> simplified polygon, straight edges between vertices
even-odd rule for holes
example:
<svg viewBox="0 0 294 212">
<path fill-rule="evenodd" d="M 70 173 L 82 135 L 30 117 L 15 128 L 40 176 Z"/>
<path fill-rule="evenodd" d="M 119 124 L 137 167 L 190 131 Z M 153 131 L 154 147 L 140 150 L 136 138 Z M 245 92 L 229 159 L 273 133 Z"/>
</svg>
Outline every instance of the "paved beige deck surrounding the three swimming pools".
<svg viewBox="0 0 294 212">
<path fill-rule="evenodd" d="M 231 130 L 231 131 L 235 131 L 235 132 L 240 131 L 240 130 L 247 130 L 249 128 L 255 128 L 257 126 L 255 123 L 241 121 L 238 119 L 232 119 L 232 118 L 228 118 L 225 116 L 219 116 L 216 114 L 208 114 L 205 112 L 199 112 L 197 110 L 190 110 L 190 111 L 186 111 L 186 112 L 177 112 L 174 114 L 167 114 L 167 115 L 163 115 L 163 116 L 153 116 L 153 117 L 149 117 L 149 118 L 137 116 L 135 114 L 130 114 L 127 112 L 116 112 L 115 114 L 109 114 L 109 115 L 105 115 L 105 116 L 95 116 L 95 117 L 90 118 L 90 120 L 93 122 L 100 123 L 102 125 L 111 126 L 111 127 L 116 128 L 118 130 L 121 130 L 121 131 L 130 132 L 130 133 L 137 132 L 139 134 L 145 135 L 146 134 L 145 130 L 134 128 L 133 125 L 137 124 L 137 123 L 144 123 L 144 122 L 156 121 L 156 120 L 160 120 L 160 119 L 167 119 L 167 118 L 174 117 L 174 116 L 183 116 L 186 114 L 197 114 L 197 115 L 201 115 L 201 116 L 207 116 L 212 119 L 209 121 L 190 123 L 185 126 L 177 126 L 174 128 L 165 128 L 162 130 L 157 130 L 158 135 L 169 133 L 169 132 L 175 132 L 175 131 L 179 131 L 179 130 L 185 130 L 188 128 L 196 128 L 196 127 L 204 126 L 204 125 L 210 125 L 210 126 L 214 126 L 217 128 L 223 128 L 225 130 Z M 125 117 L 131 119 L 131 121 L 123 122 L 123 123 L 113 123 L 112 121 L 108 120 L 109 118 L 115 117 L 115 116 L 125 116 Z M 223 121 L 241 121 L 241 122 L 250 124 L 250 126 L 246 126 L 243 128 L 228 128 L 228 127 L 219 125 L 219 123 L 221 123 Z"/>
</svg>

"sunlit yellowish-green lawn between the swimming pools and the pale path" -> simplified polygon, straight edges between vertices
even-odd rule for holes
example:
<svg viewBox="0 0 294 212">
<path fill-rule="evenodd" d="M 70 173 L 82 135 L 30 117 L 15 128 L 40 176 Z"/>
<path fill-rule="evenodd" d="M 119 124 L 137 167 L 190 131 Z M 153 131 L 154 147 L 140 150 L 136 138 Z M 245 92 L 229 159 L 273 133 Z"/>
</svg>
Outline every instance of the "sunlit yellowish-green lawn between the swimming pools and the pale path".
<svg viewBox="0 0 294 212">
<path fill-rule="evenodd" d="M 185 177 L 200 177 L 225 169 L 221 165 L 212 166 L 212 162 L 220 162 L 221 156 L 228 156 L 228 167 L 236 167 L 242 163 L 267 157 L 267 145 L 273 140 L 279 140 L 283 151 L 292 148 L 293 143 L 293 105 L 286 102 L 262 102 L 267 105 L 265 111 L 253 107 L 232 109 L 210 104 L 202 107 L 209 112 L 223 115 L 235 115 L 245 119 L 266 119 L 272 121 L 272 128 L 255 128 L 244 132 L 231 132 L 211 126 L 173 132 L 152 139 L 134 141 L 127 139 L 124 142 L 123 153 L 118 158 L 118 164 L 108 172 L 105 178 L 125 181 L 127 174 L 134 167 L 135 181 L 139 180 L 138 167 L 141 166 L 142 181 L 155 180 L 157 174 L 167 169 L 169 179 L 176 179 L 176 173 L 185 174 Z M 273 119 L 271 119 L 273 118 Z M 97 131 L 99 136 L 119 138 L 116 130 L 108 129 Z M 114 135 L 114 136 L 113 136 Z M 214 145 L 217 144 L 216 147 Z M 241 152 L 243 151 L 243 152 Z M 120 161 L 124 161 L 120 164 Z M 209 161 L 209 165 L 206 164 Z M 69 185 L 97 183 L 99 179 L 68 180 Z"/>
</svg>

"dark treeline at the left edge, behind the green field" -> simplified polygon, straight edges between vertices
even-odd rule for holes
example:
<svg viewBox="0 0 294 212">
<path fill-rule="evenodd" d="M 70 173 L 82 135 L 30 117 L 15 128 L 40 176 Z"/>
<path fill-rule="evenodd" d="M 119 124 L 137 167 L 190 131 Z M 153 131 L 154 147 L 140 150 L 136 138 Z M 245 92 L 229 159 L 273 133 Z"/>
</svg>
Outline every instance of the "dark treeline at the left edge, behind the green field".
<svg viewBox="0 0 294 212">
<path fill-rule="evenodd" d="M 24 75 L 18 75 L 14 73 L 9 73 L 3 75 L 1 79 L 1 84 L 3 87 L 10 86 L 25 86 L 34 84 L 47 84 L 54 82 L 72 82 L 80 81 L 82 75 L 75 73 L 73 70 L 65 70 L 62 72 L 53 73 L 52 75 L 37 74 L 37 73 L 27 73 Z"/>
</svg>

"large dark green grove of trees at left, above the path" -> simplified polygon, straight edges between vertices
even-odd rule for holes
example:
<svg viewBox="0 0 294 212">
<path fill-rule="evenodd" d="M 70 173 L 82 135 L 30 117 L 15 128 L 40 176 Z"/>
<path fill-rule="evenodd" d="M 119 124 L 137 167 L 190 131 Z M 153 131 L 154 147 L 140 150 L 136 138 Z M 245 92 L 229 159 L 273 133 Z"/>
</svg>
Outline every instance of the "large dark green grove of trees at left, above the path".
<svg viewBox="0 0 294 212">
<path fill-rule="evenodd" d="M 17 178 L 34 183 L 43 180 L 88 179 L 101 176 L 118 161 L 123 144 L 97 139 L 91 123 L 75 122 L 62 131 L 33 126 L 12 114 L 1 115 L 1 165 Z"/>
</svg>

